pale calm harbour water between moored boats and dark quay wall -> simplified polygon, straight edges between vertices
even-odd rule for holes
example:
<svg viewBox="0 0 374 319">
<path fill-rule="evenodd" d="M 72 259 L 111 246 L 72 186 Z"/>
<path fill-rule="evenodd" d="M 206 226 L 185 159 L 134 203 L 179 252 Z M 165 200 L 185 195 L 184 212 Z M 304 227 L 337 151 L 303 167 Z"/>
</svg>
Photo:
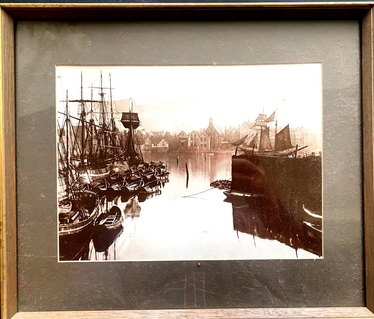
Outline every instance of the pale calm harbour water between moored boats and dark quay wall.
<svg viewBox="0 0 374 319">
<path fill-rule="evenodd" d="M 274 213 L 263 204 L 259 211 L 211 189 L 212 181 L 231 178 L 231 154 L 207 154 L 206 160 L 200 153 L 179 154 L 179 166 L 176 154 L 146 160 L 167 163 L 169 181 L 148 198 L 104 196 L 101 209 L 119 206 L 122 227 L 91 227 L 68 249 L 60 245 L 61 261 L 319 258 L 311 249 L 315 243 L 295 230 L 295 223 L 303 223 L 293 212 Z"/>
</svg>

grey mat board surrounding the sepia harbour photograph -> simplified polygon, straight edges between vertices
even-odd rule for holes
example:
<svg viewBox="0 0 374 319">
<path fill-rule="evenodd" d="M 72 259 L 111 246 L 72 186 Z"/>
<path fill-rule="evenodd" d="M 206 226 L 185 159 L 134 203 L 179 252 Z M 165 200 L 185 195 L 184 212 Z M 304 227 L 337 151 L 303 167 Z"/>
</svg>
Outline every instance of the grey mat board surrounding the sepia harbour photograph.
<svg viewBox="0 0 374 319">
<path fill-rule="evenodd" d="M 56 64 L 318 61 L 324 260 L 200 261 L 202 267 L 194 261 L 57 263 Z M 355 21 L 19 22 L 19 311 L 363 306 L 360 83 Z M 186 280 L 196 280 L 197 289 L 185 290 Z"/>
</svg>

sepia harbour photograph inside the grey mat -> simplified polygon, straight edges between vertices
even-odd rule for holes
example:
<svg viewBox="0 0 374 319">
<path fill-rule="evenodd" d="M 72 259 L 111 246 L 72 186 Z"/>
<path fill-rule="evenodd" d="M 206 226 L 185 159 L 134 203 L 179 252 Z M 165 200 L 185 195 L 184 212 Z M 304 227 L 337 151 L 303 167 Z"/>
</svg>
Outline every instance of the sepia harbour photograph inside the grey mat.
<svg viewBox="0 0 374 319">
<path fill-rule="evenodd" d="M 56 66 L 58 260 L 323 258 L 322 64 Z"/>
</svg>

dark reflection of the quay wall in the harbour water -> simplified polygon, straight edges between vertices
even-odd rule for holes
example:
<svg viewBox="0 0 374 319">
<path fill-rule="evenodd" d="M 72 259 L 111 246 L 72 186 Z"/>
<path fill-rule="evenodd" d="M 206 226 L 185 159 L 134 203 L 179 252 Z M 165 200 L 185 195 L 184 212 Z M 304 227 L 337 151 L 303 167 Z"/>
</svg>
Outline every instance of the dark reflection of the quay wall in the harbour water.
<svg viewBox="0 0 374 319">
<path fill-rule="evenodd" d="M 232 203 L 233 227 L 238 237 L 239 232 L 251 234 L 254 241 L 255 237 L 277 240 L 295 249 L 296 255 L 298 249 L 303 249 L 322 256 L 322 220 L 318 215 L 312 216 L 306 209 L 304 214 L 285 209 L 263 197 L 228 197 L 224 201 Z"/>
</svg>

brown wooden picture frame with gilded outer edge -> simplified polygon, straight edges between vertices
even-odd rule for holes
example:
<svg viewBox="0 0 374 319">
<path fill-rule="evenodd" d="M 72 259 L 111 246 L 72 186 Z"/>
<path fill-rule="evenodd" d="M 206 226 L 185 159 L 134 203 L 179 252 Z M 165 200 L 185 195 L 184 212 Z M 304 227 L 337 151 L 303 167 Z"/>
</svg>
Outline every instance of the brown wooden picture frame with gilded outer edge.
<svg viewBox="0 0 374 319">
<path fill-rule="evenodd" d="M 374 2 L 0 4 L 1 318 L 374 318 Z M 17 19 L 354 19 L 361 22 L 366 307 L 18 312 L 15 168 Z"/>
</svg>

